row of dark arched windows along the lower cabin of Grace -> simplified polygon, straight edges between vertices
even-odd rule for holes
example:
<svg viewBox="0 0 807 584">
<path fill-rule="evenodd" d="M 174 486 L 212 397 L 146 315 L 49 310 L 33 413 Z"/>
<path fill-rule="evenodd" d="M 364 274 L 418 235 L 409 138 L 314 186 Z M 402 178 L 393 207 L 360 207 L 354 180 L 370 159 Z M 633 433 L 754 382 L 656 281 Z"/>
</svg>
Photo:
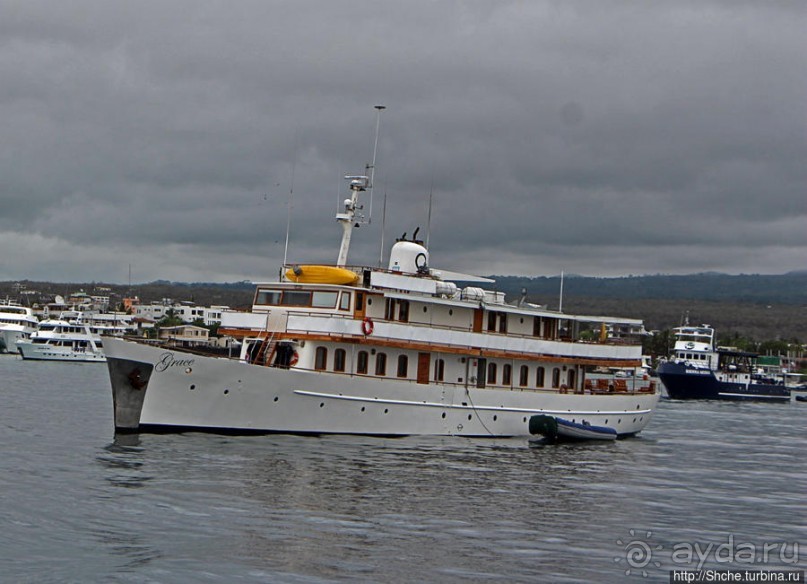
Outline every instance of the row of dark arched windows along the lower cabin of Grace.
<svg viewBox="0 0 807 584">
<path fill-rule="evenodd" d="M 335 349 L 333 355 L 333 370 L 343 373 L 347 364 L 347 352 L 345 349 Z M 317 371 L 325 371 L 328 368 L 328 349 L 325 347 L 317 347 L 314 357 L 314 369 Z M 370 355 L 367 351 L 359 351 L 356 356 L 356 373 L 359 375 L 367 375 L 370 371 Z M 387 354 L 378 353 L 375 356 L 375 374 L 378 376 L 385 376 L 387 374 Z M 409 374 L 409 357 L 407 355 L 398 355 L 398 368 L 396 375 L 398 377 L 407 377 Z M 529 385 L 530 368 L 527 365 L 522 365 L 519 370 L 519 386 L 527 387 Z M 445 380 L 445 360 L 437 359 L 434 364 L 434 380 Z M 495 385 L 498 380 L 498 365 L 496 363 L 488 363 L 487 366 L 487 383 Z M 544 387 L 546 380 L 546 368 L 538 367 L 535 372 L 535 387 Z M 513 366 L 510 363 L 505 363 L 502 366 L 502 385 L 511 385 L 513 381 Z M 566 385 L 575 387 L 576 374 L 574 369 L 569 369 L 566 372 Z M 559 388 L 561 385 L 561 371 L 560 368 L 554 367 L 552 369 L 552 387 Z"/>
</svg>

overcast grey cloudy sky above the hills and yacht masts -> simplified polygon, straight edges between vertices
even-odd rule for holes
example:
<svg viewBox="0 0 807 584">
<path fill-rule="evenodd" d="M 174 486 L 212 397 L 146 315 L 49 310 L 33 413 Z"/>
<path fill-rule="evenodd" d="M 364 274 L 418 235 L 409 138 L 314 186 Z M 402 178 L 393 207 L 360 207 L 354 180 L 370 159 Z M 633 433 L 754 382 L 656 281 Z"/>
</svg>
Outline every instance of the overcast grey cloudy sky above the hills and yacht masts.
<svg viewBox="0 0 807 584">
<path fill-rule="evenodd" d="M 807 269 L 803 0 L 0 0 L 0 280 Z M 293 192 L 293 196 L 289 197 Z M 369 199 L 365 199 L 369 212 Z"/>
</svg>

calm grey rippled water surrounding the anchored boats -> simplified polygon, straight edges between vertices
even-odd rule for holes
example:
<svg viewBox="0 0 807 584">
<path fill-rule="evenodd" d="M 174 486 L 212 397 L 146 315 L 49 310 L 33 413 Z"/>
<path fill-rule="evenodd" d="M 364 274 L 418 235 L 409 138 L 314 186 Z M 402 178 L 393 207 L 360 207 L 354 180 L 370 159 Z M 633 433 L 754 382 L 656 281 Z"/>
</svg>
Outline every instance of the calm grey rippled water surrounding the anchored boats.
<svg viewBox="0 0 807 584">
<path fill-rule="evenodd" d="M 0 357 L 0 581 L 666 582 L 698 551 L 706 568 L 807 564 L 807 403 L 663 402 L 641 437 L 575 446 L 116 442 L 106 375 Z"/>
</svg>

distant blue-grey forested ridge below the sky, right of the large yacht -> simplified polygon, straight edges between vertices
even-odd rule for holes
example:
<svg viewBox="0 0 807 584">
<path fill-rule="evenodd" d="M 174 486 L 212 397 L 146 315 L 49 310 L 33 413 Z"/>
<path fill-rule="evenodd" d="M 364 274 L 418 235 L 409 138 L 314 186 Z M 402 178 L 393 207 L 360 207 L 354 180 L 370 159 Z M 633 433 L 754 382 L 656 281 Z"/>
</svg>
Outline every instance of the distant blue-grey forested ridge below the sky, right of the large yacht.
<svg viewBox="0 0 807 584">
<path fill-rule="evenodd" d="M 492 276 L 496 287 L 509 297 L 526 289 L 530 298 L 557 303 L 560 277 L 524 278 Z M 628 276 L 591 278 L 566 276 L 564 296 L 619 298 L 623 300 L 704 300 L 759 304 L 807 305 L 807 272 L 780 276 L 692 274 L 688 276 Z"/>
</svg>

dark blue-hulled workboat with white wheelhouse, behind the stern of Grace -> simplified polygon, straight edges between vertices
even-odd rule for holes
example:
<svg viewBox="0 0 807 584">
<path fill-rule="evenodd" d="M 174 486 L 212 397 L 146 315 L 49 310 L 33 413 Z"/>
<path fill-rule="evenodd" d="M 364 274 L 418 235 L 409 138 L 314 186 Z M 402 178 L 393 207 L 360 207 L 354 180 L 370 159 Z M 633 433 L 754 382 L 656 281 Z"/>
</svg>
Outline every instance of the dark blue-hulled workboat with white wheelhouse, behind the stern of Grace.
<svg viewBox="0 0 807 584">
<path fill-rule="evenodd" d="M 671 399 L 721 399 L 789 402 L 783 382 L 757 371 L 755 353 L 717 348 L 708 325 L 675 329 L 672 358 L 657 373 Z"/>
</svg>

